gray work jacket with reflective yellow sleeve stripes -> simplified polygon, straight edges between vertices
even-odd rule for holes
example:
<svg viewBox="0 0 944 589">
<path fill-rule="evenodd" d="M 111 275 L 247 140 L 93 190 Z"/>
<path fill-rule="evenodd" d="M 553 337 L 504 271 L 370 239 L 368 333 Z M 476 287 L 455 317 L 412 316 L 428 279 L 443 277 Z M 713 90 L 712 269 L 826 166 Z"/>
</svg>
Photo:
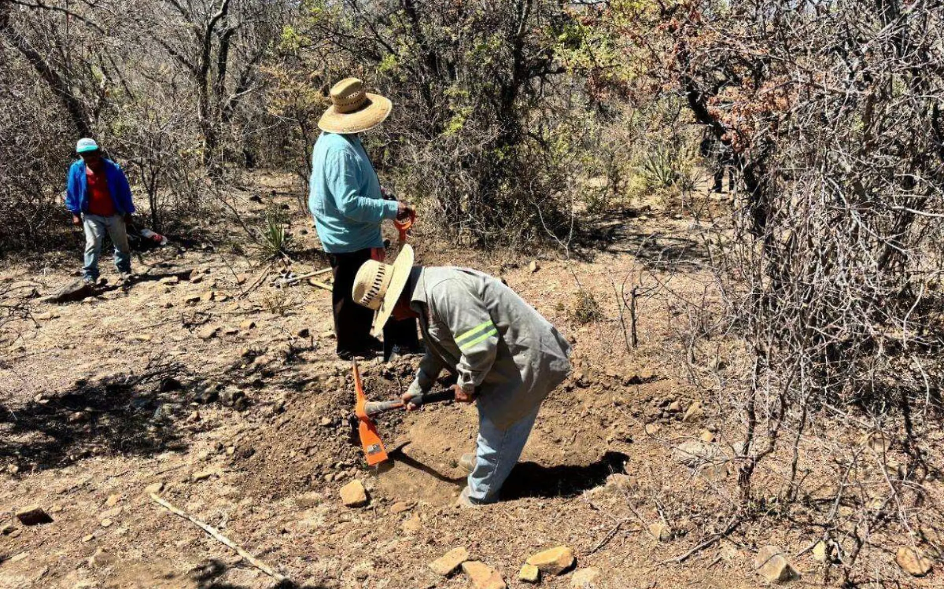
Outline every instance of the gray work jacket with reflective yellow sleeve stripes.
<svg viewBox="0 0 944 589">
<path fill-rule="evenodd" d="M 414 267 L 408 289 L 427 354 L 413 393 L 429 391 L 443 368 L 499 429 L 531 413 L 570 372 L 570 345 L 500 280 L 467 268 Z"/>
</svg>

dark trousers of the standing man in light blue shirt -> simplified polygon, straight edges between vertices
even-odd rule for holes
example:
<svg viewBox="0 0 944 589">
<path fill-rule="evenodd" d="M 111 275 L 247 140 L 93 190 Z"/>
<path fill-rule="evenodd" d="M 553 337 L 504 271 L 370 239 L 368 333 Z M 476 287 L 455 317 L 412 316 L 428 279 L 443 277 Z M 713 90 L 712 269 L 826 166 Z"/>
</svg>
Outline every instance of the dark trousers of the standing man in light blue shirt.
<svg viewBox="0 0 944 589">
<path fill-rule="evenodd" d="M 354 302 L 351 290 L 354 288 L 354 278 L 361 269 L 363 262 L 368 260 L 383 260 L 383 249 L 367 248 L 346 254 L 331 254 L 329 261 L 334 275 L 334 286 L 331 289 L 331 304 L 334 311 L 334 333 L 338 338 L 338 354 L 353 354 L 357 356 L 372 356 L 379 349 L 371 349 L 376 345 L 370 335 L 370 328 L 374 322 L 374 311 L 362 307 Z M 404 345 L 413 348 L 418 345 L 416 335 L 416 321 L 394 321 L 391 319 L 383 328 L 384 347 Z"/>
</svg>

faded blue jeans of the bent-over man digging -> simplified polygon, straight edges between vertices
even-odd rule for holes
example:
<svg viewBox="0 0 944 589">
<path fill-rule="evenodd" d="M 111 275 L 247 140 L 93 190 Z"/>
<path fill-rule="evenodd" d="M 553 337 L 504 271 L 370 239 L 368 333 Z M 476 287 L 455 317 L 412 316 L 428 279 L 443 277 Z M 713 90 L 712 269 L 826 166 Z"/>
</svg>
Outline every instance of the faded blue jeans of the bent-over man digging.
<svg viewBox="0 0 944 589">
<path fill-rule="evenodd" d="M 479 410 L 479 438 L 476 442 L 475 470 L 469 475 L 465 493 L 474 503 L 492 503 L 501 485 L 512 474 L 528 442 L 540 407 L 514 422 L 508 429 L 498 429 Z"/>
</svg>

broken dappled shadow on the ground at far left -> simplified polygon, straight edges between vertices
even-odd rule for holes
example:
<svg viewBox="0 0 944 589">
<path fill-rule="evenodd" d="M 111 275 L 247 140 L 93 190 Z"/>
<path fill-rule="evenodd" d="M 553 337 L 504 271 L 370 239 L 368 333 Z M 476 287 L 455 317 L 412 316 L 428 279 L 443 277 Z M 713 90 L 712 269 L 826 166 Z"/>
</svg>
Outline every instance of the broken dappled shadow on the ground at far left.
<svg viewBox="0 0 944 589">
<path fill-rule="evenodd" d="M 177 424 L 189 409 L 177 363 L 140 375 L 82 380 L 21 406 L 0 404 L 0 462 L 44 470 L 89 456 L 184 449 Z"/>
</svg>

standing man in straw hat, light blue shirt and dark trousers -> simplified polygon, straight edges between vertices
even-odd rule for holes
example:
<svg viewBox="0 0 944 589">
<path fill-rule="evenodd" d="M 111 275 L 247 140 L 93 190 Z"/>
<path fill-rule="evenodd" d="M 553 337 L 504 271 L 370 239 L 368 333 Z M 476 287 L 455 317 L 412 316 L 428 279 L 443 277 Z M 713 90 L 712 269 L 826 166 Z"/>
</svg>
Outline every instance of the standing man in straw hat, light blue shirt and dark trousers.
<svg viewBox="0 0 944 589">
<path fill-rule="evenodd" d="M 380 223 L 406 218 L 412 209 L 384 198 L 358 137 L 387 118 L 393 108 L 390 100 L 364 92 L 362 81 L 355 77 L 335 84 L 330 98 L 331 106 L 318 121 L 324 132 L 312 152 L 308 207 L 321 244 L 330 255 L 337 353 L 347 360 L 379 349 L 379 341 L 370 335 L 370 311 L 351 300 L 354 276 L 364 261 L 383 260 Z"/>
</svg>

